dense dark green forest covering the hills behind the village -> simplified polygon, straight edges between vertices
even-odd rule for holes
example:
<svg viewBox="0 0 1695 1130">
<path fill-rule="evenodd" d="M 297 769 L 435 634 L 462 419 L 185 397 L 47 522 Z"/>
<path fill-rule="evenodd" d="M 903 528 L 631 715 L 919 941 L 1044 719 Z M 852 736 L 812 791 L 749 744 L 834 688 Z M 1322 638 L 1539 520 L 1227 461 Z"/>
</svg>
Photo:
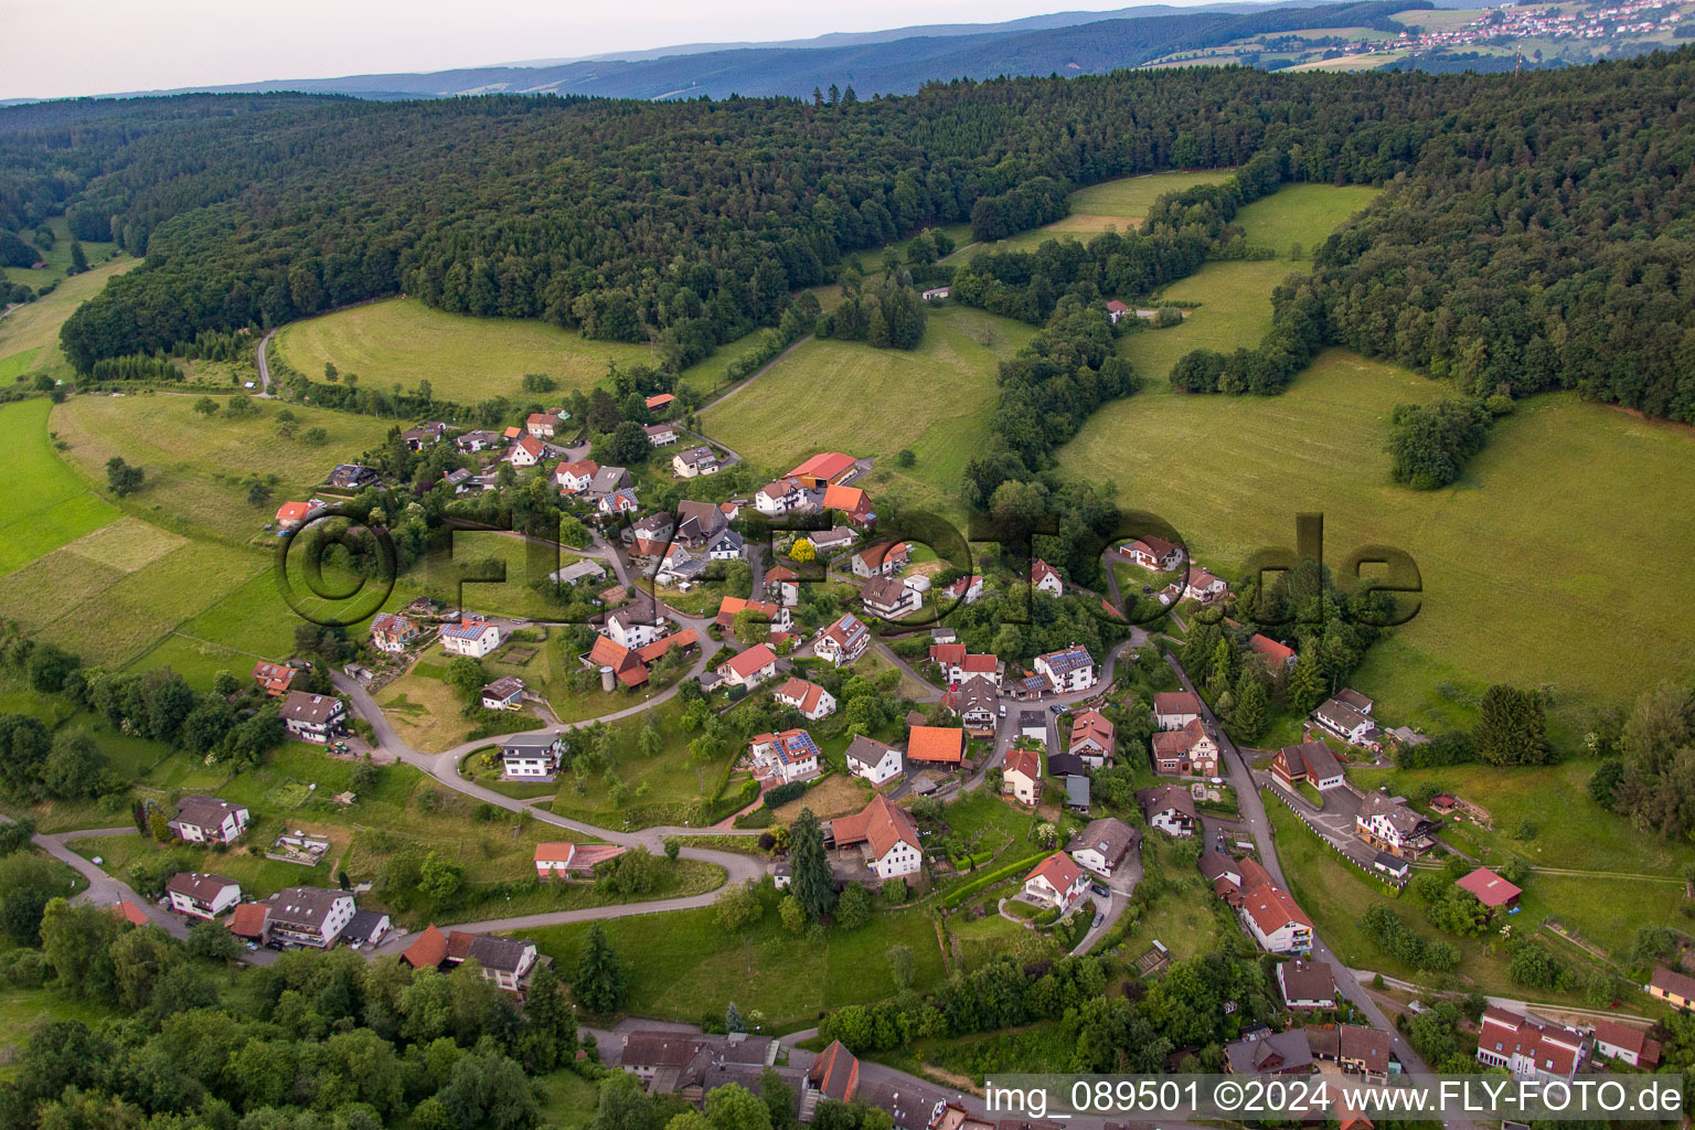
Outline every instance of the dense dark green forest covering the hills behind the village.
<svg viewBox="0 0 1695 1130">
<path fill-rule="evenodd" d="M 1315 254 L 1300 298 L 1322 341 L 1473 396 L 1578 388 L 1688 420 L 1692 80 L 1685 49 L 1522 76 L 1197 68 L 834 105 L 47 103 L 0 112 L 0 227 L 64 210 L 78 237 L 147 256 L 66 324 L 81 371 L 402 290 L 656 341 L 675 369 L 775 324 L 856 249 L 944 222 L 993 237 L 1053 219 L 1054 185 L 1259 156 L 1278 181 L 1390 188 Z M 1141 252 L 1215 246 L 1231 202 L 1180 205 Z M 1092 269 L 1049 288 L 1164 273 Z"/>
</svg>

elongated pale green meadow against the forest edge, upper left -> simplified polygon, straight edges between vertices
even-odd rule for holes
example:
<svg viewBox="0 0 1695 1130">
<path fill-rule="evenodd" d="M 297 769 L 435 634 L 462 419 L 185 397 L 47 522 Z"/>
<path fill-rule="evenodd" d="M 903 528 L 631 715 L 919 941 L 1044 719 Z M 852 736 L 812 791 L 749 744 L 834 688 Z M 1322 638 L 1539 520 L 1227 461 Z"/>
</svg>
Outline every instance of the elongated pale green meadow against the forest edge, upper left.
<svg viewBox="0 0 1695 1130">
<path fill-rule="evenodd" d="M 324 379 L 329 361 L 344 374 L 356 373 L 364 388 L 429 381 L 437 398 L 456 403 L 517 396 L 525 373 L 551 376 L 570 391 L 595 385 L 609 363 L 653 364 L 646 346 L 586 341 L 546 322 L 444 313 L 415 298 L 295 322 L 271 347 L 315 381 Z"/>
</svg>

